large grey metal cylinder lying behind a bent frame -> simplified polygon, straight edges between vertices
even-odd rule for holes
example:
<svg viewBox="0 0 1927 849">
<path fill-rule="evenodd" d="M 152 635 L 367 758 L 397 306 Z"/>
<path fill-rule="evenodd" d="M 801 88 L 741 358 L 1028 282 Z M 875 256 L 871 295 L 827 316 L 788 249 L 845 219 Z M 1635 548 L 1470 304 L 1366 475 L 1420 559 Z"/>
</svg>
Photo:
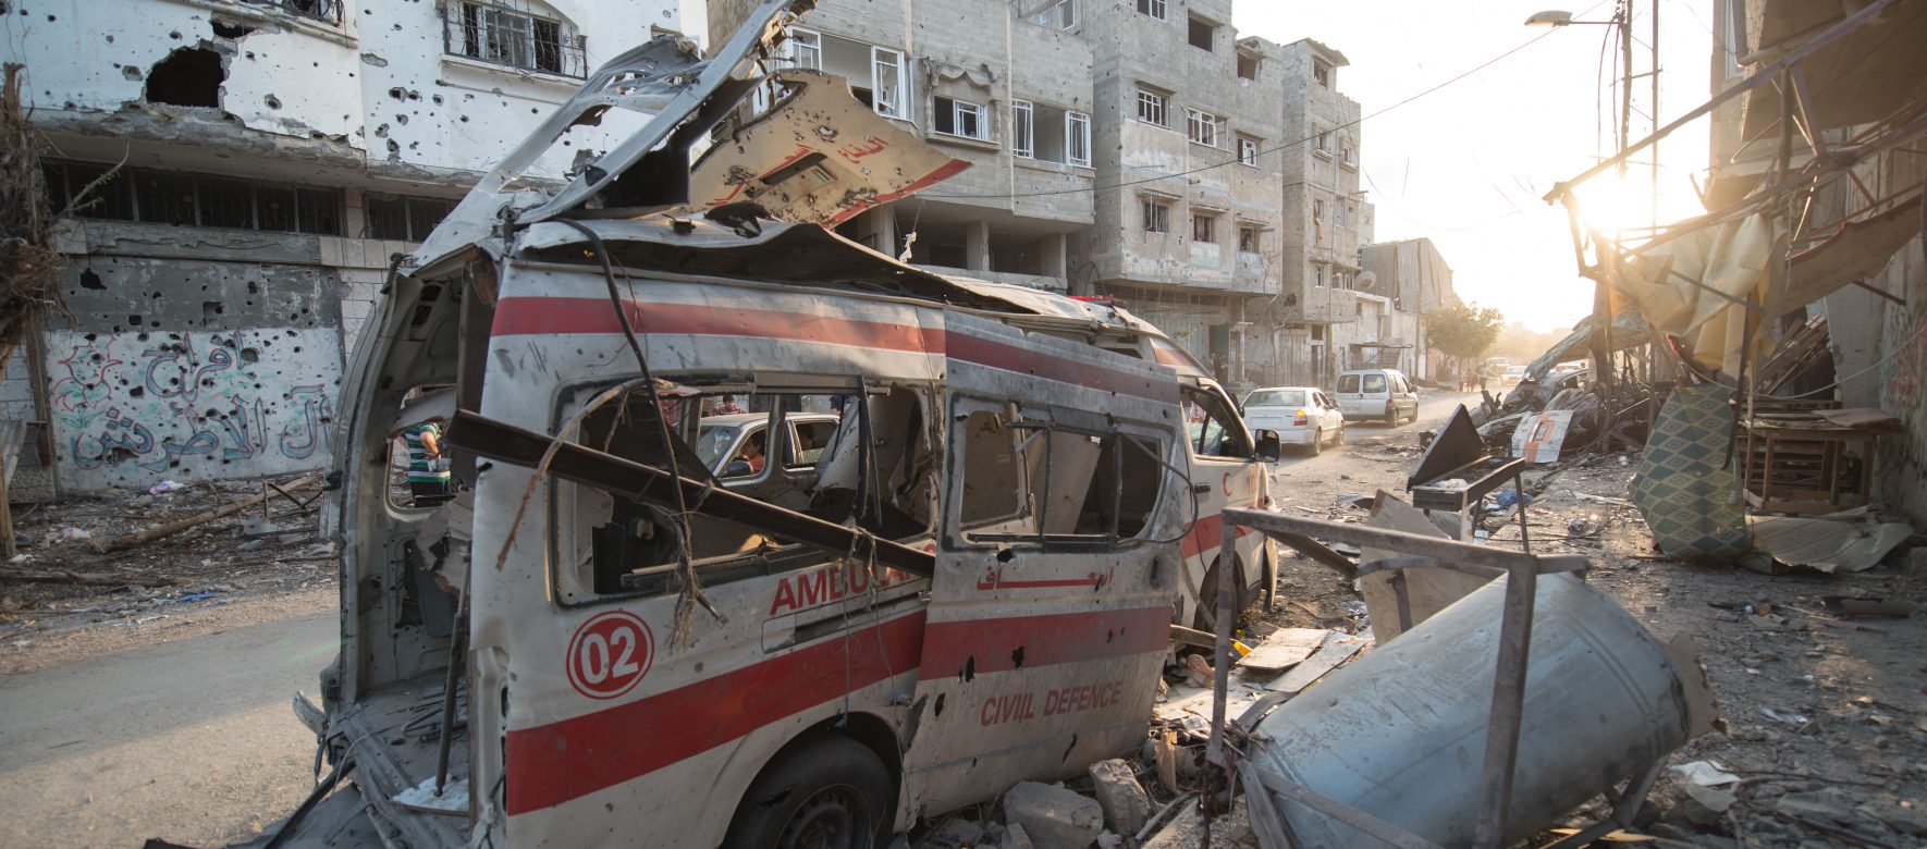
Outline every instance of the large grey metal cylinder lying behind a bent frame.
<svg viewBox="0 0 1927 849">
<path fill-rule="evenodd" d="M 1258 722 L 1254 766 L 1434 843 L 1470 845 L 1503 606 L 1501 578 L 1291 699 Z M 1665 647 L 1578 578 L 1542 576 L 1505 841 L 1686 737 L 1686 685 Z M 1299 849 L 1378 845 L 1299 803 L 1278 810 Z"/>
</svg>

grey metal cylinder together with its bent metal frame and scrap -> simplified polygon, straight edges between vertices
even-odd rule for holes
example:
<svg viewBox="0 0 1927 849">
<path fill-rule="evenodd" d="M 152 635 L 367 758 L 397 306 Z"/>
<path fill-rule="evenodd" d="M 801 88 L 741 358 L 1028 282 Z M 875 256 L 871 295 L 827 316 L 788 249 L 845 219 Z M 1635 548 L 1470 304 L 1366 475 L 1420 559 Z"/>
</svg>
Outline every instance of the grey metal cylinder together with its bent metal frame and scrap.
<svg viewBox="0 0 1927 849">
<path fill-rule="evenodd" d="M 1387 493 L 1366 526 L 1260 510 L 1224 526 L 1349 570 L 1378 637 L 1227 722 L 1220 631 L 1206 759 L 1235 776 L 1264 849 L 1513 845 L 1603 791 L 1607 818 L 1553 843 L 1586 845 L 1630 828 L 1667 757 L 1717 724 L 1692 643 L 1655 639 L 1572 576 L 1584 556 L 1459 543 Z"/>
</svg>

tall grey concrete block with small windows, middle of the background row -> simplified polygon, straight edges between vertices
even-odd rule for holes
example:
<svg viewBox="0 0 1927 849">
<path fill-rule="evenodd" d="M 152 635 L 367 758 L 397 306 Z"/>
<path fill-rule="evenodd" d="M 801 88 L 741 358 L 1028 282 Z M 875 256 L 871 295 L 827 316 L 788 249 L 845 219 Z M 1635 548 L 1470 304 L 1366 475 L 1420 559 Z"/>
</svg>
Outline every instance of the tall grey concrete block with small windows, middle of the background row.
<svg viewBox="0 0 1927 849">
<path fill-rule="evenodd" d="M 1091 6 L 1100 189 L 1079 293 L 1122 298 L 1229 383 L 1260 381 L 1249 316 L 1285 264 L 1281 54 L 1237 39 L 1229 0 Z"/>
</svg>

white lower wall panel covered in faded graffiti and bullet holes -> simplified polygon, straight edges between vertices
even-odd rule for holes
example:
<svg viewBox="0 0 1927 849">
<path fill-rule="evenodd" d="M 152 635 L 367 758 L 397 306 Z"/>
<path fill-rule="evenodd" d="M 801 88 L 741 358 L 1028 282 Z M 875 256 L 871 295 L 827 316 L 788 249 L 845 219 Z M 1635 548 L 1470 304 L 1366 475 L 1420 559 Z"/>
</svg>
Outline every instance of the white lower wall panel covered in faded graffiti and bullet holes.
<svg viewBox="0 0 1927 849">
<path fill-rule="evenodd" d="M 328 462 L 335 329 L 54 333 L 48 414 L 73 489 Z"/>
</svg>

